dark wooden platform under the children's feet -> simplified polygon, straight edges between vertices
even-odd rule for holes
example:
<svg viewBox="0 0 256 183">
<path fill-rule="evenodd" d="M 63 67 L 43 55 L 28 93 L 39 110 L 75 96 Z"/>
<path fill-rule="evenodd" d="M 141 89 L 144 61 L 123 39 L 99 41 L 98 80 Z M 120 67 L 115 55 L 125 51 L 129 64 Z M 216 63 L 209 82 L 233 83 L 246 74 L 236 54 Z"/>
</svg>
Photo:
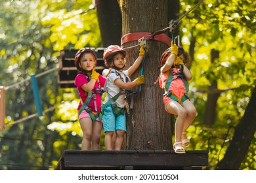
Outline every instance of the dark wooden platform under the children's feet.
<svg viewBox="0 0 256 183">
<path fill-rule="evenodd" d="M 56 169 L 202 169 L 207 166 L 207 150 L 190 150 L 186 154 L 169 150 L 64 150 Z"/>
</svg>

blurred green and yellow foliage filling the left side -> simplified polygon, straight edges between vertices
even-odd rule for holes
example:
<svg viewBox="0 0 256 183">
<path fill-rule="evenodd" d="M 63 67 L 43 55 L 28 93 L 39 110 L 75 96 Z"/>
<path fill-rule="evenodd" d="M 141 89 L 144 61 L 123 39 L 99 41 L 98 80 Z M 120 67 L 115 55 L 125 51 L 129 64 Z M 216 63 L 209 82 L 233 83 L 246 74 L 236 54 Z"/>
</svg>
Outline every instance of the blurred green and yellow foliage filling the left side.
<svg viewBox="0 0 256 183">
<path fill-rule="evenodd" d="M 100 45 L 96 13 L 89 10 L 91 1 L 0 4 L 0 85 L 7 88 L 0 169 L 54 169 L 64 149 L 81 148 L 78 97 L 57 84 L 59 51 Z M 50 69 L 37 77 L 45 111 L 38 118 L 30 75 Z"/>
</svg>

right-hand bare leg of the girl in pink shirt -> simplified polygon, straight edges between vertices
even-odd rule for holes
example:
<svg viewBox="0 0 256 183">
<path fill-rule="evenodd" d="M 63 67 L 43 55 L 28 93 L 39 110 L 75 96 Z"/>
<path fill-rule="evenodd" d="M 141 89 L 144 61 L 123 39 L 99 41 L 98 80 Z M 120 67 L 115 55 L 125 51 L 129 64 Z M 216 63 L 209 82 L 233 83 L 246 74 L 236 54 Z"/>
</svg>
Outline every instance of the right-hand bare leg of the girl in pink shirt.
<svg viewBox="0 0 256 183">
<path fill-rule="evenodd" d="M 92 149 L 100 149 L 100 133 L 102 129 L 102 122 L 95 121 L 93 122 L 93 137 L 92 137 Z"/>
</svg>

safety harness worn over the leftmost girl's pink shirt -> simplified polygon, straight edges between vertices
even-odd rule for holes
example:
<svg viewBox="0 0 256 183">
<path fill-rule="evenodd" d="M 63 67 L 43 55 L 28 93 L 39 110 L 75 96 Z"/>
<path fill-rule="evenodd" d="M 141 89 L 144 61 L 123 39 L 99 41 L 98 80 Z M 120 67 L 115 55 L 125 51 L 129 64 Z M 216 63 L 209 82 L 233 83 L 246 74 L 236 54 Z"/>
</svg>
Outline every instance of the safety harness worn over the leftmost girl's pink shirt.
<svg viewBox="0 0 256 183">
<path fill-rule="evenodd" d="M 90 76 L 86 76 L 87 77 L 87 80 L 91 80 L 91 77 Z M 95 92 L 93 92 L 93 90 L 91 90 L 91 92 L 85 92 L 85 96 L 87 95 L 87 98 L 85 99 L 85 101 L 83 102 L 83 100 L 81 99 L 81 108 L 79 109 L 79 112 L 78 114 L 80 115 L 81 112 L 83 112 L 83 110 L 85 110 L 91 120 L 94 122 L 96 120 L 96 118 L 100 117 L 99 114 L 97 113 L 96 116 L 95 114 L 93 114 L 93 110 L 91 109 L 91 107 L 88 107 L 91 99 L 93 98 L 93 101 L 94 101 L 94 105 L 95 105 L 95 111 L 96 112 L 99 112 L 98 111 L 98 108 L 97 108 L 97 104 L 96 104 L 96 94 L 99 93 L 100 95 L 102 95 L 102 93 L 104 92 L 102 89 L 101 89 L 101 86 L 100 86 L 100 81 L 97 79 L 97 82 L 98 82 L 98 88 L 95 88 Z"/>
</svg>

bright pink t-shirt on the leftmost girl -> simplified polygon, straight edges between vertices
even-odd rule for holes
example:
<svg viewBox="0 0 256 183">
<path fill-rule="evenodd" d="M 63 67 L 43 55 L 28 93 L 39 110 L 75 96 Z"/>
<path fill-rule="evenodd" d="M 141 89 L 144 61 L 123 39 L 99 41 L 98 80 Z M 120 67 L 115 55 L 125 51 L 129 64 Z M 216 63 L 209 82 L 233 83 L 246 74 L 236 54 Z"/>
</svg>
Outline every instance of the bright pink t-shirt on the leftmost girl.
<svg viewBox="0 0 256 183">
<path fill-rule="evenodd" d="M 75 86 L 77 86 L 77 90 L 79 93 L 79 97 L 81 97 L 81 99 L 83 100 L 83 102 L 85 102 L 85 100 L 87 99 L 87 92 L 85 92 L 85 90 L 83 90 L 81 88 L 81 86 L 83 84 L 87 84 L 89 81 L 87 80 L 86 76 L 83 74 L 78 74 L 75 77 Z M 98 80 L 95 82 L 95 87 L 93 88 L 93 92 L 95 92 L 96 88 L 99 88 L 99 84 L 100 84 L 100 89 L 104 88 L 104 84 L 106 82 L 106 78 L 102 75 L 98 76 Z M 77 107 L 77 110 L 79 110 L 81 108 L 81 101 Z M 101 97 L 100 97 L 100 93 L 96 93 L 96 107 L 95 107 L 95 102 L 93 97 L 91 97 L 91 101 L 89 102 L 88 107 L 90 107 L 93 111 L 95 112 L 99 112 L 100 108 L 101 108 Z"/>
</svg>

